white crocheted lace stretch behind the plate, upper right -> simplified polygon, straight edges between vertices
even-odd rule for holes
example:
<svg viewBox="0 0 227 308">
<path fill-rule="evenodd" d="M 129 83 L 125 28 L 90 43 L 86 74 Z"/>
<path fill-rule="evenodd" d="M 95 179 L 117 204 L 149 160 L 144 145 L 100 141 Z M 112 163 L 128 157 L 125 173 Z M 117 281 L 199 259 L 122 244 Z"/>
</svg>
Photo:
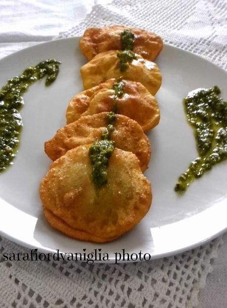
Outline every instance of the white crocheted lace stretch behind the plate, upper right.
<svg viewBox="0 0 227 308">
<path fill-rule="evenodd" d="M 83 22 L 57 38 L 81 36 L 86 28 L 108 25 L 153 31 L 165 43 L 227 69 L 226 0 L 113 0 L 93 6 Z"/>
</svg>

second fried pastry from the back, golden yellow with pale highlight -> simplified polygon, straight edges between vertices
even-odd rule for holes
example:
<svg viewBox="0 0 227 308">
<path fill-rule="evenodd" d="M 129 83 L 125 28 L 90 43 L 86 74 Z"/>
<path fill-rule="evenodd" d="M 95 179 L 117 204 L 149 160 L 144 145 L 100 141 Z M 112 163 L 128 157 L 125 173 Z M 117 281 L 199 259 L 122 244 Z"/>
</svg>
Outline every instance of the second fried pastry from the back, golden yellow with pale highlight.
<svg viewBox="0 0 227 308">
<path fill-rule="evenodd" d="M 99 53 L 80 69 L 84 89 L 94 87 L 110 78 L 122 77 L 141 82 L 154 95 L 161 86 L 160 71 L 155 63 L 138 54 L 135 54 L 135 57 L 122 72 L 116 50 Z"/>
</svg>

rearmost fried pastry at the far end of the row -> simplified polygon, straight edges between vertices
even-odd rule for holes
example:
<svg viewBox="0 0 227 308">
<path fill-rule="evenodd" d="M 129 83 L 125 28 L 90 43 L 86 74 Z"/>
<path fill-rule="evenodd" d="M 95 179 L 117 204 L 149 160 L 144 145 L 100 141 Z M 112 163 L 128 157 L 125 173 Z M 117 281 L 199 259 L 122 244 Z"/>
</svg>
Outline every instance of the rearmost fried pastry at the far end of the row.
<svg viewBox="0 0 227 308">
<path fill-rule="evenodd" d="M 153 61 L 162 50 L 162 39 L 155 33 L 124 26 L 87 29 L 80 40 L 80 50 L 89 61 L 100 52 L 121 50 L 123 46 L 120 34 L 125 30 L 134 34 L 132 51 L 140 54 L 143 58 Z"/>
</svg>

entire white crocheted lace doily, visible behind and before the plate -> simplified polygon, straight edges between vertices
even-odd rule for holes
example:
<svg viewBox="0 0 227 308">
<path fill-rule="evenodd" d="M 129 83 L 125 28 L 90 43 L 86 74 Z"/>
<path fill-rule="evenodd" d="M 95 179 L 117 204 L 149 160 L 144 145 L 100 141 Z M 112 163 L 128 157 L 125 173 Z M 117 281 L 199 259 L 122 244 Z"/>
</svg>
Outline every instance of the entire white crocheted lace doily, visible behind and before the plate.
<svg viewBox="0 0 227 308">
<path fill-rule="evenodd" d="M 223 0 L 114 0 L 94 5 L 83 22 L 58 39 L 82 35 L 91 26 L 141 27 L 227 69 L 226 12 Z M 221 243 L 218 237 L 173 257 L 119 265 L 1 259 L 0 307 L 197 307 Z M 27 251 L 0 238 L 0 256 Z"/>
</svg>

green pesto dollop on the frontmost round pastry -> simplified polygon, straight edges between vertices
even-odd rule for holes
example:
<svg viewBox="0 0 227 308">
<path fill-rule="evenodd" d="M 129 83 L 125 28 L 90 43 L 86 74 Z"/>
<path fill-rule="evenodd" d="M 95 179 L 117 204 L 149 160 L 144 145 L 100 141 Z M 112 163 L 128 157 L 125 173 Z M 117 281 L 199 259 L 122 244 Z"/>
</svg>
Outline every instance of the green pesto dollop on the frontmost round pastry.
<svg viewBox="0 0 227 308">
<path fill-rule="evenodd" d="M 114 148 L 114 141 L 110 140 L 96 141 L 89 148 L 89 156 L 92 165 L 91 176 L 97 188 L 101 188 L 108 182 L 107 167 Z"/>
</svg>

